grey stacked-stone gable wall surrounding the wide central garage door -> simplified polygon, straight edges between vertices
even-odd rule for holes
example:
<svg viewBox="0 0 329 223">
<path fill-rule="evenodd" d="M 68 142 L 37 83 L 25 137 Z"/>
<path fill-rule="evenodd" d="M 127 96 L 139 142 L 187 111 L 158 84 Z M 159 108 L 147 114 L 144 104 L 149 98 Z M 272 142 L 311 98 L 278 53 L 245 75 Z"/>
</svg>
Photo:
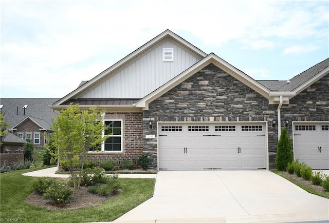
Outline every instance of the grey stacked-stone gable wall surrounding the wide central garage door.
<svg viewBox="0 0 329 223">
<path fill-rule="evenodd" d="M 274 167 L 278 129 L 272 128 L 277 105 L 225 71 L 208 65 L 149 104 L 143 112 L 143 135 L 157 134 L 157 121 L 268 121 L 269 167 Z M 153 129 L 148 122 L 153 120 Z M 157 167 L 157 138 L 144 139 L 143 150 Z"/>
</svg>

